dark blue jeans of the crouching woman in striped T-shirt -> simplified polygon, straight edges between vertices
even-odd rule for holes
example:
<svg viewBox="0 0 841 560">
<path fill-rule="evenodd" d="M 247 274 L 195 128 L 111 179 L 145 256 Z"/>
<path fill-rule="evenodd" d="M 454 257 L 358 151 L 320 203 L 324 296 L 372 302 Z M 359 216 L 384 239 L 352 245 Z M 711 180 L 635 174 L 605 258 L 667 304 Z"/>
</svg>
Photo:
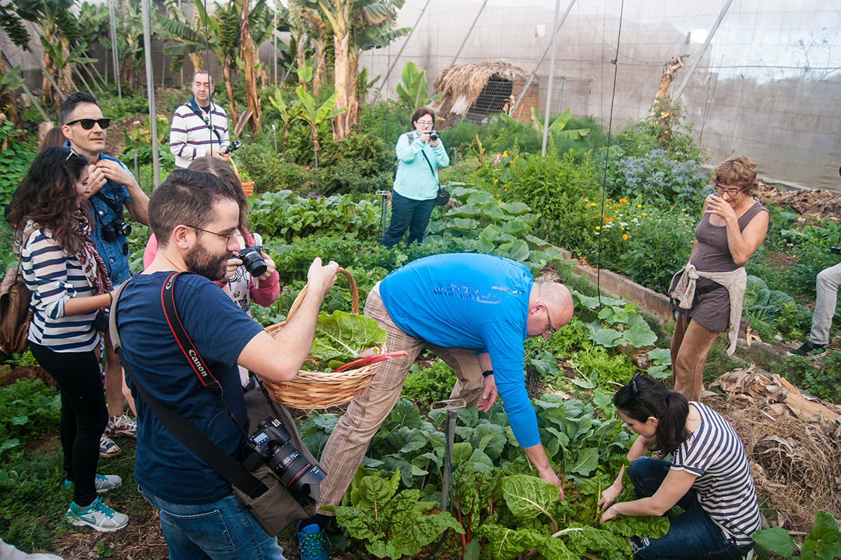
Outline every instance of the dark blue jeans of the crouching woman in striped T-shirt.
<svg viewBox="0 0 841 560">
<path fill-rule="evenodd" d="M 639 498 L 653 496 L 669 473 L 671 462 L 640 457 L 631 463 L 628 476 Z M 648 536 L 632 537 L 635 560 L 737 560 L 743 558 L 750 547 L 737 547 L 727 537 L 698 502 L 695 490 L 678 500 L 684 513 L 669 519 L 669 532 L 659 539 Z"/>
</svg>

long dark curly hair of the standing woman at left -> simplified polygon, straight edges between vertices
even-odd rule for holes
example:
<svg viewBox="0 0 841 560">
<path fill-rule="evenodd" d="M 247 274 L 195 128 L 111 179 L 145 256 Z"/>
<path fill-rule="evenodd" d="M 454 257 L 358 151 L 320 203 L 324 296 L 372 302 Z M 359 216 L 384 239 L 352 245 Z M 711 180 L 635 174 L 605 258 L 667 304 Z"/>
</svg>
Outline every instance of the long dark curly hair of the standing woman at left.
<svg viewBox="0 0 841 560">
<path fill-rule="evenodd" d="M 66 252 L 78 252 L 81 239 L 77 230 L 76 182 L 86 169 L 87 159 L 70 148 L 50 146 L 40 152 L 9 205 L 7 219 L 16 235 L 23 235 L 26 221 L 31 219 L 50 230 Z M 81 215 L 87 219 L 87 212 Z"/>
</svg>

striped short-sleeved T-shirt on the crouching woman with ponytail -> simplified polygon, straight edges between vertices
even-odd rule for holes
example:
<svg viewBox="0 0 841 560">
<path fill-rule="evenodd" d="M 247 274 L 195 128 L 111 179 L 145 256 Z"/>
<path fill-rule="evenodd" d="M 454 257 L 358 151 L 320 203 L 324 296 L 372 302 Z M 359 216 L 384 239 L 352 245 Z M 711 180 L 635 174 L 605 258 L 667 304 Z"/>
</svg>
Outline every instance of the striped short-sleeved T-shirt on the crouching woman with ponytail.
<svg viewBox="0 0 841 560">
<path fill-rule="evenodd" d="M 701 426 L 674 452 L 671 468 L 698 475 L 692 488 L 701 507 L 738 546 L 749 546 L 762 518 L 742 441 L 714 410 L 690 404 L 701 414 Z"/>
</svg>

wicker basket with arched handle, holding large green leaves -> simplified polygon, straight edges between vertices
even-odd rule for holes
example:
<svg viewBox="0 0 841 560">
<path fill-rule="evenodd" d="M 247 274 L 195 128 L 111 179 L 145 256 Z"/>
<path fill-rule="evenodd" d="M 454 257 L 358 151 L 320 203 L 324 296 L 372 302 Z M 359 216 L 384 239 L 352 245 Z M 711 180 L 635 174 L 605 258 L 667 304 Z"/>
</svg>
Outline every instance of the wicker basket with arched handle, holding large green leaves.
<svg viewBox="0 0 841 560">
<path fill-rule="evenodd" d="M 347 272 L 344 268 L 340 268 L 339 272 L 347 278 L 347 282 L 350 284 L 352 313 L 355 315 L 359 314 L 357 283 L 353 280 L 351 273 Z M 286 325 L 286 322 L 298 311 L 306 294 L 307 286 L 304 286 L 304 289 L 301 290 L 301 293 L 298 294 L 298 297 L 295 298 L 292 307 L 289 309 L 287 320 L 283 321 L 283 323 L 267 327 L 266 332 L 270 335 L 275 335 L 278 330 L 283 329 L 283 325 Z M 384 352 L 385 345 L 378 345 L 377 353 L 382 354 Z M 377 372 L 379 365 L 379 363 L 373 363 L 338 373 L 305 372 L 302 370 L 291 381 L 285 381 L 283 383 L 273 383 L 266 379 L 262 381 L 266 385 L 269 394 L 272 395 L 272 399 L 275 399 L 278 403 L 294 409 L 324 409 L 328 406 L 344 404 L 364 393 L 368 385 L 371 384 L 371 380 Z"/>
</svg>

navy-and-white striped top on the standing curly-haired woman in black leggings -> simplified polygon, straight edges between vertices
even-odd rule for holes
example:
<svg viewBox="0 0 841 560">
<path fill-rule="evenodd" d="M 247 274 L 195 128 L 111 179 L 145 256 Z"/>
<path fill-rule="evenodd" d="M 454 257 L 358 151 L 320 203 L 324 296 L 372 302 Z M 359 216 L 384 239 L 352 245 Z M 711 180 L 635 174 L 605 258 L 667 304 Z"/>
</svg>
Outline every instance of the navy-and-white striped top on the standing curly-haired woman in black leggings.
<svg viewBox="0 0 841 560">
<path fill-rule="evenodd" d="M 43 229 L 29 235 L 20 255 L 24 281 L 32 293 L 30 306 L 34 309 L 29 341 L 56 352 L 93 350 L 99 343 L 92 324 L 96 312 L 71 317 L 64 314 L 68 299 L 93 296 L 76 256 L 68 255 Z"/>
</svg>

